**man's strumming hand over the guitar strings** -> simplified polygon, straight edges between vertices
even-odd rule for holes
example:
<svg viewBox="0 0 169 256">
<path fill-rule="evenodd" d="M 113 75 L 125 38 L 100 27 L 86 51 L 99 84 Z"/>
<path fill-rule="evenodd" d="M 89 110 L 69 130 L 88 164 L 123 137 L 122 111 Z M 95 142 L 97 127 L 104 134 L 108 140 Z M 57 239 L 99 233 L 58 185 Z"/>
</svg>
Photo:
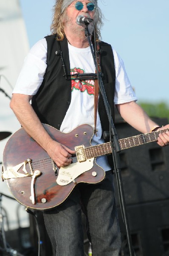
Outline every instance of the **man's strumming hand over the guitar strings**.
<svg viewBox="0 0 169 256">
<path fill-rule="evenodd" d="M 65 145 L 51 140 L 48 143 L 47 153 L 58 167 L 63 167 L 68 166 L 71 163 L 71 156 L 72 154 L 75 154 L 75 151 L 67 148 Z"/>
</svg>

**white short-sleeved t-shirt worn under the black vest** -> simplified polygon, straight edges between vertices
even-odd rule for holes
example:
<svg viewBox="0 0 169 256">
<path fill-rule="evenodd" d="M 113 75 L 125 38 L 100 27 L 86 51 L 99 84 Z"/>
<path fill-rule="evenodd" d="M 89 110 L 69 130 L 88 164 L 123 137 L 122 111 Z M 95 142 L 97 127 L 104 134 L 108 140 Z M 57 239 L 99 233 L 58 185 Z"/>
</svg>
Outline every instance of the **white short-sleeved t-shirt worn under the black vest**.
<svg viewBox="0 0 169 256">
<path fill-rule="evenodd" d="M 70 73 L 95 73 L 95 66 L 90 47 L 76 48 L 68 44 Z M 124 68 L 124 63 L 113 49 L 115 61 L 115 104 L 121 104 L 137 100 L 132 90 L 130 81 Z M 42 84 L 43 76 L 47 67 L 47 42 L 44 39 L 35 44 L 25 58 L 23 68 L 17 79 L 13 93 L 35 95 Z M 62 75 L 62 74 L 61 74 Z M 94 82 L 72 80 L 71 102 L 60 131 L 68 133 L 79 125 L 89 124 L 94 128 Z M 97 113 L 97 137 L 92 138 L 92 145 L 104 143 L 101 138 L 102 129 Z M 110 170 L 107 157 L 97 157 L 96 163 L 105 171 Z"/>
</svg>

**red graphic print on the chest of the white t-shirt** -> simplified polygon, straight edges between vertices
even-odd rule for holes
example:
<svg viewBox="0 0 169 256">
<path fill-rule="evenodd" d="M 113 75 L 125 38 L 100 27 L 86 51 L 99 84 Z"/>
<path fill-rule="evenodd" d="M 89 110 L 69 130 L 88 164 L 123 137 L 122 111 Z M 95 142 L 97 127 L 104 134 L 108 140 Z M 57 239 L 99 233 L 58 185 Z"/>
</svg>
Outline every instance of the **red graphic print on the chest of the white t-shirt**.
<svg viewBox="0 0 169 256">
<path fill-rule="evenodd" d="M 76 67 L 70 70 L 70 74 L 72 76 L 77 73 L 83 74 L 84 70 Z M 93 80 L 79 81 L 78 79 L 72 80 L 72 91 L 73 89 L 80 90 L 82 93 L 84 93 L 86 90 L 89 95 L 94 95 L 94 81 Z"/>
</svg>

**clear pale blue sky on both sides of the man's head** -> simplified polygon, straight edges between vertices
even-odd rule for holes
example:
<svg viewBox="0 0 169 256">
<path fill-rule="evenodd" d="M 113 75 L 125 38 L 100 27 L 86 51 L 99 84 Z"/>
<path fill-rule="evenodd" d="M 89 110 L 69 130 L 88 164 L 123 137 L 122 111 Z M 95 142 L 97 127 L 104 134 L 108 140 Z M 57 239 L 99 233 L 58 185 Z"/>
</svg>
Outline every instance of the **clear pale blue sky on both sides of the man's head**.
<svg viewBox="0 0 169 256">
<path fill-rule="evenodd" d="M 30 47 L 50 34 L 54 0 L 19 0 Z M 124 60 L 138 102 L 168 103 L 169 0 L 98 0 L 102 40 Z"/>
</svg>

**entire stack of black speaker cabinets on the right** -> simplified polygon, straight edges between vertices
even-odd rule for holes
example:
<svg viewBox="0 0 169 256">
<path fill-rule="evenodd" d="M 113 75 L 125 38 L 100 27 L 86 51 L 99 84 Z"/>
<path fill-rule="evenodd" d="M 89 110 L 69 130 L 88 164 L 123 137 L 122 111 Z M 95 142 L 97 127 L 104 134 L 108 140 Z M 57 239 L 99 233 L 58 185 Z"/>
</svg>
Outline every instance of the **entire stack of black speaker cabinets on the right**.
<svg viewBox="0 0 169 256">
<path fill-rule="evenodd" d="M 159 125 L 167 119 L 152 118 Z M 139 133 L 116 118 L 118 139 Z M 121 150 L 121 176 L 135 256 L 169 256 L 169 147 L 156 142 Z M 115 177 L 115 175 L 114 175 Z M 121 256 L 129 255 L 116 180 L 115 199 L 122 233 Z"/>
</svg>

